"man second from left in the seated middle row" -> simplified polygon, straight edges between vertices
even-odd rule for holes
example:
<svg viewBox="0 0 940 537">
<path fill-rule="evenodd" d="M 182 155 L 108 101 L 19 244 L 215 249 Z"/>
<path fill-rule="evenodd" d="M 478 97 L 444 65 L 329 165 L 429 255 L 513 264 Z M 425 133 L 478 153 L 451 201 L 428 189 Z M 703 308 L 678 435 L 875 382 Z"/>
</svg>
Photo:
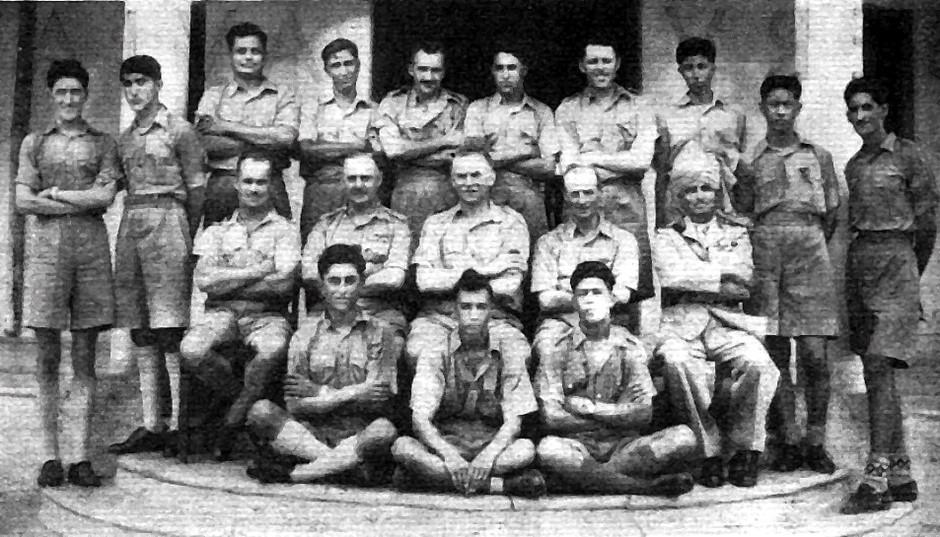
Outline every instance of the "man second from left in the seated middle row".
<svg viewBox="0 0 940 537">
<path fill-rule="evenodd" d="M 359 307 L 392 328 L 397 360 L 408 332 L 405 316 L 394 301 L 408 270 L 411 252 L 408 223 L 404 216 L 379 203 L 382 172 L 371 155 L 346 157 L 343 185 L 345 205 L 320 217 L 307 237 L 301 262 L 303 280 L 309 288 L 321 289 L 323 280 L 317 263 L 323 252 L 334 244 L 359 245 L 366 262 L 358 291 Z"/>
</svg>

